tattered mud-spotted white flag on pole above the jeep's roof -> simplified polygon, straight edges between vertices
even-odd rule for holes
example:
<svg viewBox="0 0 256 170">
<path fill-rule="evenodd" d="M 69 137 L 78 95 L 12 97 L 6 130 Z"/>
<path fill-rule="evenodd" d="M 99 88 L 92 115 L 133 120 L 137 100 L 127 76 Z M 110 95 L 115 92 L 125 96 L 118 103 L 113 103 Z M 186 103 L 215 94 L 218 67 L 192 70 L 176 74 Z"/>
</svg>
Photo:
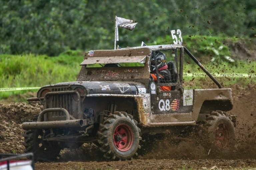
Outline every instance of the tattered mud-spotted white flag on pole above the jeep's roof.
<svg viewBox="0 0 256 170">
<path fill-rule="evenodd" d="M 119 37 L 118 37 L 118 26 L 125 28 L 127 30 L 133 30 L 135 28 L 135 26 L 137 25 L 137 23 L 133 23 L 133 20 L 128 20 L 125 18 L 120 18 L 116 16 L 116 35 L 115 35 L 115 40 L 119 41 Z"/>
</svg>

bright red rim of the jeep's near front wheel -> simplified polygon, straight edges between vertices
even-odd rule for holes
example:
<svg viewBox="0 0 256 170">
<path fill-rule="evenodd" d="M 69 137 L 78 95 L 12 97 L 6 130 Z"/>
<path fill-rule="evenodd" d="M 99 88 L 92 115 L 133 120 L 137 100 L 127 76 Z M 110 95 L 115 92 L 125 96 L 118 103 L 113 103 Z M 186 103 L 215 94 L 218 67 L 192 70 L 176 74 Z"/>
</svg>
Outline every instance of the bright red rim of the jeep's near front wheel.
<svg viewBox="0 0 256 170">
<path fill-rule="evenodd" d="M 132 129 L 126 124 L 118 125 L 113 133 L 113 140 L 116 148 L 120 151 L 127 151 L 133 144 Z"/>
</svg>

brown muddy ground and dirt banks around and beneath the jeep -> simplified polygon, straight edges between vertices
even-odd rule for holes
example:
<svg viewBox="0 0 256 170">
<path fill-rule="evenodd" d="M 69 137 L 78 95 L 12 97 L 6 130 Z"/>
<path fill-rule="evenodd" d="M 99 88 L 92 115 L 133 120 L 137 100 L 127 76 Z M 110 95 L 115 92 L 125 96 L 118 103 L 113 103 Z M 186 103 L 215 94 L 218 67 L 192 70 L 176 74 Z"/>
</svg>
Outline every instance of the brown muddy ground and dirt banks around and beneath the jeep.
<svg viewBox="0 0 256 170">
<path fill-rule="evenodd" d="M 194 140 L 177 142 L 175 136 L 156 136 L 131 161 L 106 162 L 94 144 L 63 150 L 57 162 L 35 164 L 36 169 L 256 169 L 256 85 L 232 86 L 237 115 L 236 149 L 232 155 L 212 157 Z M 0 104 L 0 153 L 24 153 L 22 122 L 40 112 L 26 103 Z M 142 142 L 143 145 L 143 142 Z M 149 149 L 148 149 L 149 148 Z"/>
</svg>

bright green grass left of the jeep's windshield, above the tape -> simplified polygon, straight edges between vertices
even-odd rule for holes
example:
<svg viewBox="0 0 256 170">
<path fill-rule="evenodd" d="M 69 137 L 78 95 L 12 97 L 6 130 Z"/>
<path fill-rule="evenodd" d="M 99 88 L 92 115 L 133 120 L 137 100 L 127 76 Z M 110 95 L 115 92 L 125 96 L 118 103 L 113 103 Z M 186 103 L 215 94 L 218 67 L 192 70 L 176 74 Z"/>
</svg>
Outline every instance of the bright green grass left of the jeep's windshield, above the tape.
<svg viewBox="0 0 256 170">
<path fill-rule="evenodd" d="M 0 87 L 41 87 L 47 84 L 74 81 L 82 61 L 83 55 L 76 51 L 65 52 L 57 57 L 2 54 L 0 55 Z M 1 92 L 0 99 L 28 91 L 37 90 Z"/>
</svg>

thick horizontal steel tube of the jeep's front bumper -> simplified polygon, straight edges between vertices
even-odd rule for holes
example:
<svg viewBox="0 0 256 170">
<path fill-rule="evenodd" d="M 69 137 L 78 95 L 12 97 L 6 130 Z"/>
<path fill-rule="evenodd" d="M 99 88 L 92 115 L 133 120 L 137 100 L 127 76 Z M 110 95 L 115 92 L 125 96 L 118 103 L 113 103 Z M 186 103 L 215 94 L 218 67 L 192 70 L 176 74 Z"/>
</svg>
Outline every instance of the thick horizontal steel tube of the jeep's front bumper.
<svg viewBox="0 0 256 170">
<path fill-rule="evenodd" d="M 82 119 L 47 122 L 26 122 L 22 124 L 24 130 L 49 129 L 49 128 L 81 128 L 84 126 Z"/>
</svg>

